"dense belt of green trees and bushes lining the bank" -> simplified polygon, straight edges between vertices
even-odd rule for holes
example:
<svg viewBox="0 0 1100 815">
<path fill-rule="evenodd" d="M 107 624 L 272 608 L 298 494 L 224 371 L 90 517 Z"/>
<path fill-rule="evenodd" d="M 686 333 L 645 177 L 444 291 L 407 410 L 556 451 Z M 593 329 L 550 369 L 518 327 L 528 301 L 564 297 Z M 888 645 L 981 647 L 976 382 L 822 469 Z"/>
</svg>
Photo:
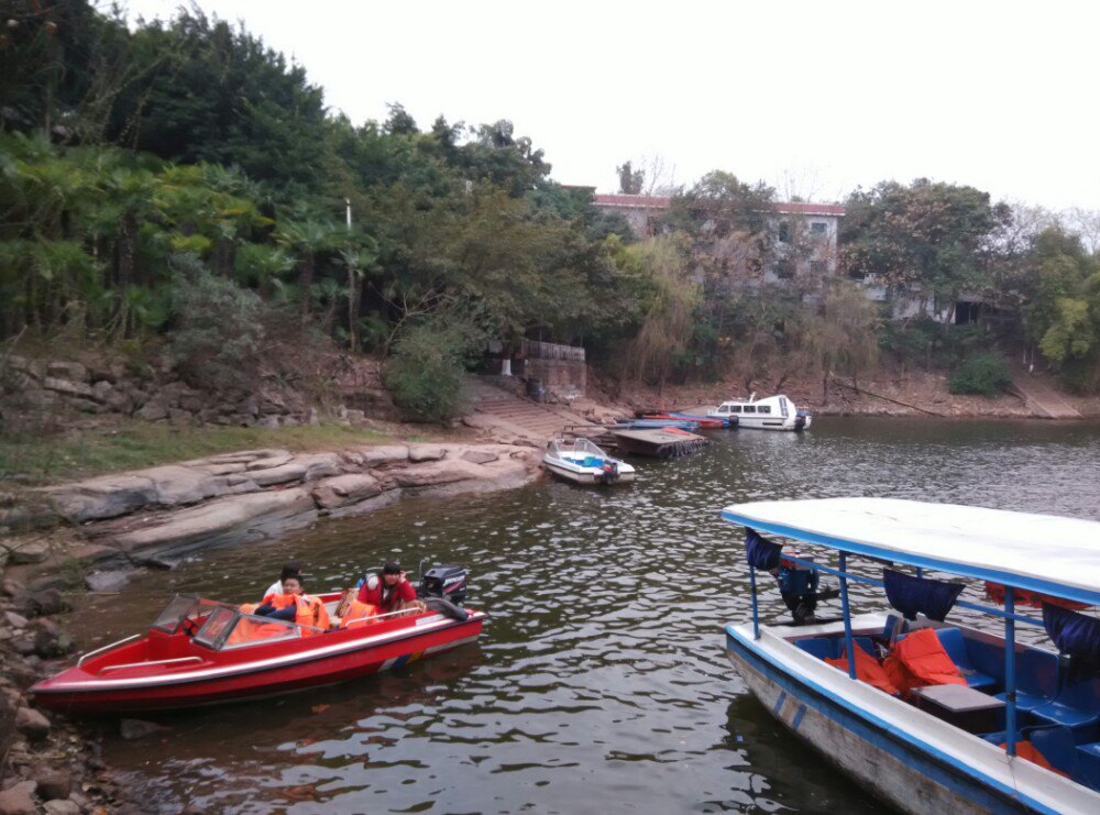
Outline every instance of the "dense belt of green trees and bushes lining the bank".
<svg viewBox="0 0 1100 815">
<path fill-rule="evenodd" d="M 823 263 L 773 189 L 716 170 L 639 236 L 506 119 L 425 126 L 395 103 L 351 122 L 301 66 L 195 9 L 133 29 L 87 0 L 2 9 L 6 351 L 156 348 L 212 387 L 246 383 L 276 341 L 320 338 L 391 359 L 398 404 L 436 420 L 462 409 L 485 340 L 525 337 L 657 387 L 827 392 L 882 365 L 1021 354 L 1100 386 L 1096 216 L 884 181 L 844 201 Z"/>
</svg>

